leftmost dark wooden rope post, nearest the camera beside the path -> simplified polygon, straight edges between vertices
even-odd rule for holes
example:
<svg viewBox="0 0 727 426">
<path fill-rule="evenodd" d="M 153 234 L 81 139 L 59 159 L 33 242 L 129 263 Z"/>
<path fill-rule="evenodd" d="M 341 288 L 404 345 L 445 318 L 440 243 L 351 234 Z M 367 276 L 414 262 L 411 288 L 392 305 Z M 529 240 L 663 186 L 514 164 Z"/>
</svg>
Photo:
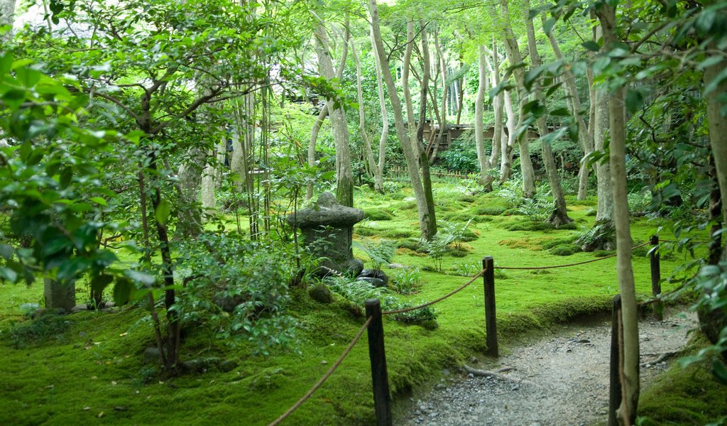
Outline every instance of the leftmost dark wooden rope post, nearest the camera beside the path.
<svg viewBox="0 0 727 426">
<path fill-rule="evenodd" d="M 371 382 L 374 386 L 374 411 L 377 426 L 392 426 L 391 395 L 389 376 L 386 371 L 386 352 L 384 350 L 384 326 L 381 321 L 381 302 L 378 299 L 366 300 L 366 318 L 369 324 L 369 358 L 371 358 Z"/>
</svg>

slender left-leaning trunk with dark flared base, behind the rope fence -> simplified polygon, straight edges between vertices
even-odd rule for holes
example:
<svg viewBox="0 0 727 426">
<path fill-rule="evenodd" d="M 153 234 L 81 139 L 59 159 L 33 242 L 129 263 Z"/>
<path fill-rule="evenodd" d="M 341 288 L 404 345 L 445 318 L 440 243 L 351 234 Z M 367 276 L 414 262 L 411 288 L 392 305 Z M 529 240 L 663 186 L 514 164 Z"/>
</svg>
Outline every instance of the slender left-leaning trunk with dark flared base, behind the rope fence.
<svg viewBox="0 0 727 426">
<path fill-rule="evenodd" d="M 530 7 L 528 2 L 528 8 Z M 526 20 L 527 32 L 528 32 L 528 49 L 530 52 L 530 66 L 531 68 L 537 68 L 542 65 L 540 54 L 538 53 L 537 46 L 535 45 L 535 28 L 532 20 Z M 524 82 L 523 82 L 524 84 Z M 540 87 L 539 79 L 533 86 L 535 92 L 535 99 L 542 104 L 545 108 L 545 95 L 543 95 L 542 87 Z M 546 108 L 547 109 L 547 108 Z M 538 126 L 538 132 L 540 137 L 545 137 L 548 133 L 547 123 L 545 122 L 545 115 L 537 118 L 536 124 Z M 548 218 L 548 222 L 555 225 L 558 228 L 566 223 L 571 223 L 573 220 L 568 217 L 568 210 L 566 209 L 566 196 L 563 194 L 563 187 L 561 186 L 561 177 L 558 176 L 558 168 L 555 166 L 555 158 L 553 158 L 553 149 L 550 143 L 542 141 L 542 155 L 543 163 L 545 164 L 545 172 L 547 173 L 547 179 L 550 183 L 550 192 L 553 194 L 553 212 Z"/>
</svg>

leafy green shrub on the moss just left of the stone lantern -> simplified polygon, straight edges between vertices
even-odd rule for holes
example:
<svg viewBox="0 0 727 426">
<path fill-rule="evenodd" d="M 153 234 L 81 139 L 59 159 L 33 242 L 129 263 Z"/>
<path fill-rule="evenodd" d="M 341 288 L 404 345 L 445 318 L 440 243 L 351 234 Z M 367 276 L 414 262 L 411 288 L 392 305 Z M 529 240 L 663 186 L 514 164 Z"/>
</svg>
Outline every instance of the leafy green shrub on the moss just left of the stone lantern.
<svg viewBox="0 0 727 426">
<path fill-rule="evenodd" d="M 296 258 L 289 246 L 205 233 L 181 244 L 179 252 L 177 271 L 186 284 L 178 302 L 183 322 L 204 317 L 215 324 L 217 337 L 231 345 L 252 342 L 262 355 L 294 342 L 297 323 L 285 313 Z M 225 306 L 232 308 L 229 316 L 222 313 Z"/>
</svg>

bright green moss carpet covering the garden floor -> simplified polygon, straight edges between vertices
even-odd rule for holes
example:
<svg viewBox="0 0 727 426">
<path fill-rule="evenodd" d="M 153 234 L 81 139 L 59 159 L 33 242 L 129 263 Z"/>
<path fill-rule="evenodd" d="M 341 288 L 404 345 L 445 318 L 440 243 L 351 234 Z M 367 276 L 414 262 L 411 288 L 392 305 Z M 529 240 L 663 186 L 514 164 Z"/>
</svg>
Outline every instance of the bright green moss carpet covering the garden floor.
<svg viewBox="0 0 727 426">
<path fill-rule="evenodd" d="M 553 254 L 547 247 L 571 244 L 593 223 L 593 200 L 570 201 L 576 229 L 509 230 L 532 222 L 509 214 L 513 206 L 490 194 L 470 194 L 454 185 L 437 185 L 439 220 L 470 222 L 476 238 L 467 238 L 463 257 L 446 255 L 441 270 L 430 257 L 399 249 L 394 262 L 421 270 L 419 293 L 402 297 L 411 302 L 433 300 L 464 284 L 457 271 L 478 271 L 484 256 L 499 266 L 544 266 L 592 260 L 577 252 Z M 354 238 L 392 240 L 417 236 L 417 211 L 410 193 L 390 196 L 357 193 L 356 205 L 371 219 L 356 225 Z M 517 212 L 515 212 L 517 213 Z M 379 220 L 374 220 L 379 218 Z M 664 223 L 635 220 L 632 236 L 646 241 Z M 662 230 L 662 238 L 668 238 Z M 365 260 L 365 255 L 355 252 Z M 682 263 L 672 256 L 662 262 L 666 276 Z M 651 293 L 648 258 L 633 258 L 636 290 Z M 393 275 L 395 271 L 385 268 Z M 673 286 L 664 284 L 664 292 Z M 498 270 L 497 317 L 501 347 L 523 334 L 555 322 L 609 309 L 616 294 L 615 260 L 554 270 Z M 83 289 L 80 289 L 83 291 Z M 153 345 L 146 311 L 115 308 L 31 321 L 21 305 L 39 302 L 42 286 L 0 284 L 0 425 L 101 424 L 267 425 L 292 405 L 336 360 L 364 323 L 342 303 L 323 305 L 294 288 L 289 306 L 297 318 L 297 350 L 252 355 L 252 348 L 230 347 L 204 324 L 185 336 L 182 359 L 217 357 L 237 363 L 231 371 L 210 368 L 160 380 L 153 364 L 144 363 Z M 79 294 L 79 300 L 84 296 Z M 395 398 L 438 376 L 443 366 L 485 349 L 481 282 L 437 305 L 437 329 L 403 325 L 385 318 L 385 342 L 390 386 Z M 284 425 L 370 425 L 374 409 L 368 348 L 364 339 L 319 390 Z"/>
</svg>

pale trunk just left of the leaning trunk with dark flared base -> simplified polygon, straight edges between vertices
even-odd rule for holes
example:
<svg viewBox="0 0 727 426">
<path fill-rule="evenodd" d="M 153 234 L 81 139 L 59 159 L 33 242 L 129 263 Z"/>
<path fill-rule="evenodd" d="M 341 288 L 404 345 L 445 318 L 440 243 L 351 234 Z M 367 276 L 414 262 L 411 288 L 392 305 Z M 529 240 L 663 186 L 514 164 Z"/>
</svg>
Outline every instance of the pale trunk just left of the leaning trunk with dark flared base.
<svg viewBox="0 0 727 426">
<path fill-rule="evenodd" d="M 518 47 L 518 40 L 515 39 L 513 28 L 510 25 L 510 12 L 507 9 L 507 2 L 501 1 L 500 7 L 502 8 L 502 14 L 504 15 L 503 25 L 505 29 L 505 51 L 507 52 L 507 60 L 510 62 L 510 66 L 523 63 L 523 57 L 520 54 L 520 48 Z M 525 113 L 523 108 L 528 103 L 528 95 L 525 89 L 525 71 L 522 67 L 515 68 L 513 70 L 513 76 L 515 76 L 515 82 L 518 84 L 518 124 L 517 129 L 522 129 Z M 510 139 L 515 137 L 514 133 L 510 134 Z M 525 129 L 523 133 L 518 137 L 518 146 L 520 148 L 520 167 L 523 172 L 523 197 L 533 198 L 535 196 L 535 172 L 533 170 L 533 164 L 530 159 L 530 151 L 528 149 L 529 139 L 528 131 Z"/>
</svg>

